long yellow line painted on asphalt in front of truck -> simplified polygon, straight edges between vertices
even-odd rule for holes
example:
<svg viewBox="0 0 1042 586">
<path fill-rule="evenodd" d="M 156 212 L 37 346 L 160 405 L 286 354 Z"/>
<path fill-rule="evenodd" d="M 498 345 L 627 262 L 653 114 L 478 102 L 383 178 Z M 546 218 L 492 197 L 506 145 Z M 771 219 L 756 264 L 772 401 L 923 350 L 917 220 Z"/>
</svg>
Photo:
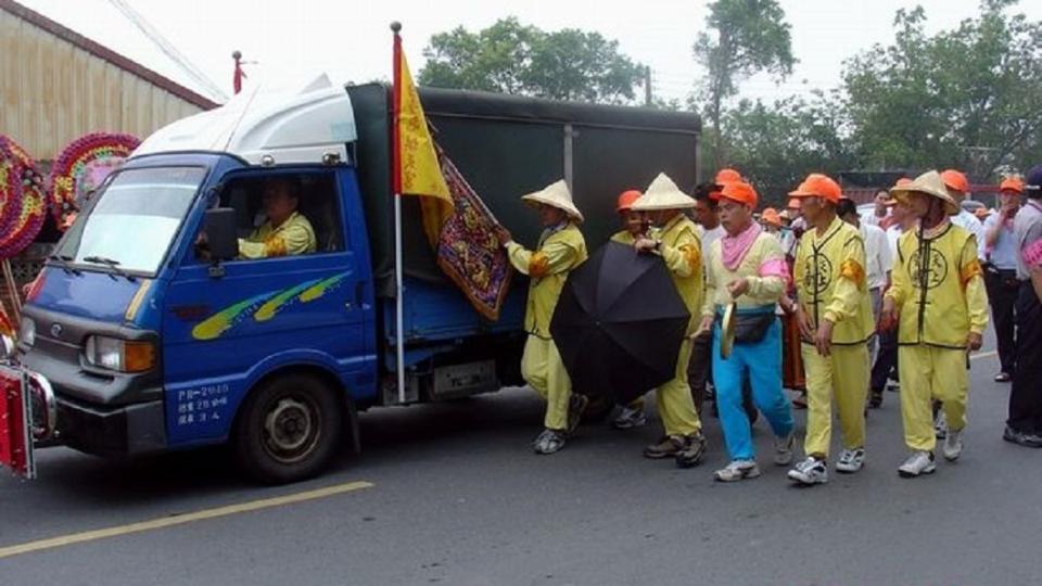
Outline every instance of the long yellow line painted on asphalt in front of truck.
<svg viewBox="0 0 1042 586">
<path fill-rule="evenodd" d="M 346 484 L 338 484 L 335 486 L 327 486 L 325 488 L 306 491 L 292 495 L 264 498 L 260 500 L 251 500 L 249 502 L 241 502 L 239 505 L 228 505 L 227 507 L 218 507 L 216 509 L 204 509 L 191 513 L 163 517 L 160 519 L 153 519 L 151 521 L 141 521 L 139 523 L 130 523 L 127 525 L 117 525 L 114 527 L 96 531 L 85 531 L 82 533 L 72 533 L 68 535 L 62 535 L 60 537 L 52 537 L 50 539 L 40 539 L 38 542 L 28 542 L 25 544 L 0 548 L 0 559 L 10 558 L 12 556 L 21 556 L 22 553 L 30 553 L 33 551 L 41 551 L 45 549 L 54 549 L 56 547 L 81 544 L 85 542 L 94 542 L 98 539 L 106 539 L 109 537 L 118 537 L 132 533 L 141 533 L 145 531 L 171 527 L 175 525 L 183 525 L 186 523 L 216 519 L 219 517 L 228 517 L 230 514 L 259 511 L 262 509 L 270 509 L 272 507 L 282 507 L 285 505 L 293 505 L 295 502 L 327 498 L 343 493 L 350 493 L 352 491 L 371 488 L 373 484 L 369 482 L 350 482 Z"/>
</svg>

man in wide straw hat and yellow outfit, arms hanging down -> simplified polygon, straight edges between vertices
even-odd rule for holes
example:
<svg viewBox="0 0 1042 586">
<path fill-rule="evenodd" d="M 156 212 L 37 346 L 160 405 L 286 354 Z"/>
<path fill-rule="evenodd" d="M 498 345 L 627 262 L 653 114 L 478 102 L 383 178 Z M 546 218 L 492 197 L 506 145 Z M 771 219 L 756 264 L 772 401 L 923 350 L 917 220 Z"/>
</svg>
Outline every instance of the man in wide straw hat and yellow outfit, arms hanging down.
<svg viewBox="0 0 1042 586">
<path fill-rule="evenodd" d="M 969 377 L 966 353 L 980 348 L 988 327 L 988 295 L 977 259 L 977 241 L 951 221 L 960 211 L 937 171 L 890 193 L 919 219 L 898 241 L 892 284 L 884 297 L 880 324 L 898 324 L 898 370 L 904 443 L 912 450 L 898 469 L 902 477 L 936 470 L 931 400 L 943 403 L 949 461 L 963 451 Z"/>
</svg>

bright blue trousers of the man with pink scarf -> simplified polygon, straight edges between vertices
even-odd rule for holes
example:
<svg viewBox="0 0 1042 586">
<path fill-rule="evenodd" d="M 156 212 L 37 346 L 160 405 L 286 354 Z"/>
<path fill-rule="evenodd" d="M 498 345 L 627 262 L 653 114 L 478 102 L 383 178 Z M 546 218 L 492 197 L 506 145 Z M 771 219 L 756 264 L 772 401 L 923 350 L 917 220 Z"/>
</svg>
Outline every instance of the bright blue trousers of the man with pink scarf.
<svg viewBox="0 0 1042 586">
<path fill-rule="evenodd" d="M 774 307 L 771 307 L 774 311 Z M 778 437 L 792 432 L 792 408 L 782 391 L 782 322 L 775 320 L 757 344 L 735 344 L 730 357 L 720 357 L 720 320 L 713 327 L 713 384 L 720 424 L 732 460 L 752 460 L 752 426 L 741 406 L 745 377 L 752 386 L 752 402 Z"/>
</svg>

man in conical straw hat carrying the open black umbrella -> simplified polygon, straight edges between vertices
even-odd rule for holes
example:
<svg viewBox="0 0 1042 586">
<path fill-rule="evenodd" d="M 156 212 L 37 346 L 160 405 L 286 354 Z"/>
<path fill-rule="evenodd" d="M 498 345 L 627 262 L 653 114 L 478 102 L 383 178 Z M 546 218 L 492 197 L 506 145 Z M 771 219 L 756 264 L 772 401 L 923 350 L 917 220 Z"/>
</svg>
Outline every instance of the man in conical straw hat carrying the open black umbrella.
<svg viewBox="0 0 1042 586">
<path fill-rule="evenodd" d="M 697 466 L 706 450 L 702 423 L 687 381 L 691 358 L 689 336 L 697 329 L 704 281 L 698 231 L 695 222 L 684 214 L 691 207 L 695 207 L 695 200 L 682 192 L 665 174 L 659 174 L 644 195 L 633 203 L 633 211 L 646 213 L 655 226 L 651 237 L 638 238 L 634 247 L 641 253 L 662 256 L 677 292 L 691 313 L 688 335 L 681 343 L 676 360 L 676 375 L 656 391 L 665 435 L 644 450 L 648 458 L 674 458 L 682 468 Z"/>
</svg>

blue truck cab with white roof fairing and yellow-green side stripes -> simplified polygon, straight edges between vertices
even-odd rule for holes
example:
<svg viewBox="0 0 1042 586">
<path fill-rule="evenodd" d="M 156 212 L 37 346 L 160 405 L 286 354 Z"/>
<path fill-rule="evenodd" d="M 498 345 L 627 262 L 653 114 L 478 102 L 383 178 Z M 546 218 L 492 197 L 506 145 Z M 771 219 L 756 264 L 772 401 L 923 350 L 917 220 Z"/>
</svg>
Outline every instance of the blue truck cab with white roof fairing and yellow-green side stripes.
<svg viewBox="0 0 1042 586">
<path fill-rule="evenodd" d="M 374 399 L 350 99 L 326 87 L 267 100 L 148 139 L 35 283 L 21 361 L 50 381 L 71 447 L 124 457 L 234 440 L 258 477 L 295 480 Z M 314 252 L 213 255 L 214 238 L 237 246 L 266 220 L 272 180 L 292 186 Z"/>
</svg>

